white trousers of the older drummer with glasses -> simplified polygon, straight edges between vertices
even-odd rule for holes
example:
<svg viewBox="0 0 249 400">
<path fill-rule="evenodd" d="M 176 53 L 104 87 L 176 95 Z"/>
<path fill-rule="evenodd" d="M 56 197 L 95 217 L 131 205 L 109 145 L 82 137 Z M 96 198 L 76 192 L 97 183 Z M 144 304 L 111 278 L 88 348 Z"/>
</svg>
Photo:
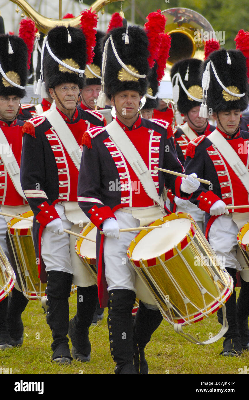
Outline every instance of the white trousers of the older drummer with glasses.
<svg viewBox="0 0 249 400">
<path fill-rule="evenodd" d="M 74 225 L 66 218 L 64 206 L 56 204 L 64 229 L 79 233 L 82 227 Z M 94 277 L 84 267 L 75 251 L 76 236 L 64 232 L 56 235 L 46 228 L 42 232 L 41 255 L 46 265 L 46 272 L 62 271 L 73 275 L 72 283 L 78 286 L 92 286 L 96 283 Z"/>
</svg>

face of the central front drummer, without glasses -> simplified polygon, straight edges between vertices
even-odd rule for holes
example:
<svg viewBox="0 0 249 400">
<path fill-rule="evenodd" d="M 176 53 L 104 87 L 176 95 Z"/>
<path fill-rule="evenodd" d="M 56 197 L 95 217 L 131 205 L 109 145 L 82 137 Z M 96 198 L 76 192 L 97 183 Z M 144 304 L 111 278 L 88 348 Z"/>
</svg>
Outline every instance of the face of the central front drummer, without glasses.
<svg viewBox="0 0 249 400">
<path fill-rule="evenodd" d="M 141 96 L 135 90 L 123 90 L 111 98 L 112 106 L 115 106 L 116 115 L 125 119 L 134 118 L 139 110 Z"/>
</svg>

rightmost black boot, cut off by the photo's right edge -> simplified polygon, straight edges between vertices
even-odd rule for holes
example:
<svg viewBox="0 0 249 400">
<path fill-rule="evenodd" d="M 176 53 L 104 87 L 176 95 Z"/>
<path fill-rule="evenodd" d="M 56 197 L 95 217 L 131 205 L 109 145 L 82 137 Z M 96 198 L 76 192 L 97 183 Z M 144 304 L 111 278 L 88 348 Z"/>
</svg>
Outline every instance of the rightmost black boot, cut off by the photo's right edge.
<svg viewBox="0 0 249 400">
<path fill-rule="evenodd" d="M 241 337 L 241 345 L 244 350 L 249 350 L 249 282 L 240 277 L 241 289 L 237 300 L 237 321 L 239 326 L 239 334 Z"/>
</svg>

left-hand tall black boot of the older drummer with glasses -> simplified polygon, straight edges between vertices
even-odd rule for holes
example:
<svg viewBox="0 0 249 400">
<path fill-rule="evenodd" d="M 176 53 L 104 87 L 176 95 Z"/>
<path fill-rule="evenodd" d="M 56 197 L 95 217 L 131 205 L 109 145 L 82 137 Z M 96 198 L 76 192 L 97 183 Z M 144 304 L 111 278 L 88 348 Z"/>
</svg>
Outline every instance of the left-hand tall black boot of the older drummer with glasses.
<svg viewBox="0 0 249 400">
<path fill-rule="evenodd" d="M 52 360 L 59 364 L 70 364 L 72 357 L 68 346 L 69 307 L 68 297 L 72 287 L 72 274 L 60 271 L 48 272 L 47 323 L 52 330 Z"/>
</svg>

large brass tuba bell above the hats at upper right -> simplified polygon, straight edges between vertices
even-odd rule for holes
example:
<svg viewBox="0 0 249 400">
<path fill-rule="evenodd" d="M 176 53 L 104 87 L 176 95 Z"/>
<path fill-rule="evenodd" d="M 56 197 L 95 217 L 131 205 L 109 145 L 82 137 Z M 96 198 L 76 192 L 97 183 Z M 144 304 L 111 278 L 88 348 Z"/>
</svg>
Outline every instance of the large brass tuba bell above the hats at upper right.
<svg viewBox="0 0 249 400">
<path fill-rule="evenodd" d="M 204 58 L 204 42 L 214 31 L 211 24 L 198 12 L 188 8 L 169 8 L 161 12 L 166 18 L 165 32 L 171 36 L 167 64 L 171 67 L 184 58 Z"/>
</svg>

